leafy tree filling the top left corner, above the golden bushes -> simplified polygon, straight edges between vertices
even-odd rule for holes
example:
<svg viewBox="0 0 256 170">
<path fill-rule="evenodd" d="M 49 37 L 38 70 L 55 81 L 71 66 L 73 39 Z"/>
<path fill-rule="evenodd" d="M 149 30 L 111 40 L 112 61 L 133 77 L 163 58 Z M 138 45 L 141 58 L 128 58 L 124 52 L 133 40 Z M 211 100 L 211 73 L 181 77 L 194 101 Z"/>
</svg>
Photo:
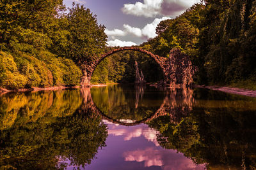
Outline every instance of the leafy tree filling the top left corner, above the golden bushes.
<svg viewBox="0 0 256 170">
<path fill-rule="evenodd" d="M 62 0 L 34 0 L 0 2 L 0 46 L 1 50 L 12 50 L 13 43 L 28 43 L 33 45 L 38 36 L 44 37 L 51 20 L 63 10 Z M 35 34 L 31 38 L 31 34 Z M 30 39 L 29 39 L 30 38 Z M 26 41 L 27 40 L 27 41 Z M 45 45 L 42 39 L 40 43 Z M 40 45 L 38 43 L 38 45 Z"/>
</svg>

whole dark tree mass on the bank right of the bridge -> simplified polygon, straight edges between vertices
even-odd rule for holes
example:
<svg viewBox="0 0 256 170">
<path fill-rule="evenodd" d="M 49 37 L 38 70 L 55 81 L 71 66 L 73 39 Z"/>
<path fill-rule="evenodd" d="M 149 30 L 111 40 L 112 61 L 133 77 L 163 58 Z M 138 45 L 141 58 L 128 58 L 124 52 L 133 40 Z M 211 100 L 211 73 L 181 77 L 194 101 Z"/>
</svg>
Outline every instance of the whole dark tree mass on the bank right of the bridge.
<svg viewBox="0 0 256 170">
<path fill-rule="evenodd" d="M 197 83 L 239 85 L 241 81 L 255 89 L 256 1 L 203 2 L 162 21 L 158 36 L 143 43 L 143 48 L 166 57 L 170 49 L 182 49 L 198 67 Z"/>
</svg>

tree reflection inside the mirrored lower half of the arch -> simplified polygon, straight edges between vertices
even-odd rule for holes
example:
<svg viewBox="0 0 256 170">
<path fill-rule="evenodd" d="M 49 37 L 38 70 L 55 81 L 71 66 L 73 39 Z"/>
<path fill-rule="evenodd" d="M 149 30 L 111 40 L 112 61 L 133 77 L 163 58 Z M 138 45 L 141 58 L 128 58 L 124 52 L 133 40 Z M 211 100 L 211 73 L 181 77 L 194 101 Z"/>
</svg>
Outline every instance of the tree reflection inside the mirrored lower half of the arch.
<svg viewBox="0 0 256 170">
<path fill-rule="evenodd" d="M 138 95 L 139 93 L 134 92 L 133 87 L 131 89 L 120 86 L 108 86 L 92 88 L 90 91 L 97 108 L 104 115 L 115 120 L 143 120 L 154 114 L 164 97 L 164 94 L 145 93 L 143 95 L 145 99 L 141 100 L 138 103 L 138 108 L 136 108 L 134 103 L 136 103 L 136 94 Z"/>
</svg>

